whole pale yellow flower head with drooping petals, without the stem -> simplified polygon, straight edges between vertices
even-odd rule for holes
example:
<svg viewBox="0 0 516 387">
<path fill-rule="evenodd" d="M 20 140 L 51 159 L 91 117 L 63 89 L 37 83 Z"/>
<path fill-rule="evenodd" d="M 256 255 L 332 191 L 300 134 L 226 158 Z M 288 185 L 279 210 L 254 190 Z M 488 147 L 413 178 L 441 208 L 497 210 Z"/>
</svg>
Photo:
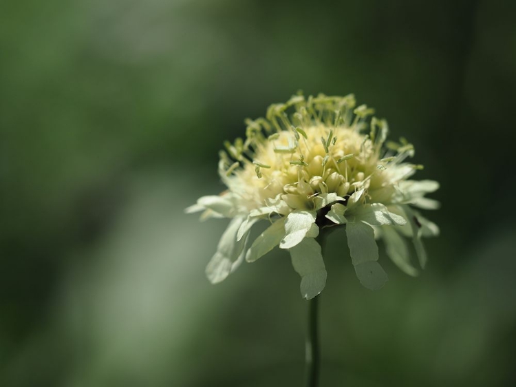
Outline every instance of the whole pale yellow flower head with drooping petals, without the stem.
<svg viewBox="0 0 516 387">
<path fill-rule="evenodd" d="M 369 289 L 387 281 L 376 239 L 383 239 L 402 271 L 417 275 L 406 242 L 411 239 L 424 267 L 421 237 L 437 236 L 439 229 L 413 207 L 438 208 L 424 197 L 438 182 L 409 180 L 422 168 L 405 162 L 413 146 L 404 138 L 386 141 L 387 122 L 366 105 L 355 106 L 353 95 L 298 94 L 271 105 L 267 118 L 246 120 L 245 140 L 225 143 L 219 174 L 228 190 L 186 209 L 204 211 L 202 219 L 231 218 L 206 267 L 211 282 L 279 245 L 290 251 L 301 275 L 301 295 L 311 299 L 327 276 L 317 237 L 331 227 L 345 230 L 358 280 Z M 259 220 L 270 226 L 250 244 L 250 229 Z"/>
</svg>

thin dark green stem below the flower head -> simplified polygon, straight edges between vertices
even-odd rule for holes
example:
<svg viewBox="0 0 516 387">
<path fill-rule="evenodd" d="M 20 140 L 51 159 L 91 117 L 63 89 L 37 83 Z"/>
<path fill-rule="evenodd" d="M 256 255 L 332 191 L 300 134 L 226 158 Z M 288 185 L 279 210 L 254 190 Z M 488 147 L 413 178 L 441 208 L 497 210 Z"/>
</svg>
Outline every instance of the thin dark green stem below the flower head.
<svg viewBox="0 0 516 387">
<path fill-rule="evenodd" d="M 305 343 L 306 387 L 317 387 L 319 381 L 319 329 L 317 309 L 319 295 L 308 301 L 308 333 Z"/>
</svg>

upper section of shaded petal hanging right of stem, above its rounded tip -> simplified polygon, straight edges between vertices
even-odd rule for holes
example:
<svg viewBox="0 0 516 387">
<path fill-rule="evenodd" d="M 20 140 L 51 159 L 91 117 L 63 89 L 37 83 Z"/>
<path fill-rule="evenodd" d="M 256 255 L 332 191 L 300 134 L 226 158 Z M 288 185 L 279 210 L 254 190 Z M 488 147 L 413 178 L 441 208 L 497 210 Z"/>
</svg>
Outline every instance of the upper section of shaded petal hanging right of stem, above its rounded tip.
<svg viewBox="0 0 516 387">
<path fill-rule="evenodd" d="M 354 265 L 378 260 L 378 246 L 371 226 L 363 222 L 347 223 L 346 236 Z"/>
</svg>

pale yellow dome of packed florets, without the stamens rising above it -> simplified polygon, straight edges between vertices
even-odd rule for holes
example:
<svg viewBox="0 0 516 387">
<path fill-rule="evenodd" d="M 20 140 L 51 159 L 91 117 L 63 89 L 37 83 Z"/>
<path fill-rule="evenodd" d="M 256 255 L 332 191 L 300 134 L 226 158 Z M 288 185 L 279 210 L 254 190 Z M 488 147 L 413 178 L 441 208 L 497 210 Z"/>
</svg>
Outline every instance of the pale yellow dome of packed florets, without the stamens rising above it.
<svg viewBox="0 0 516 387">
<path fill-rule="evenodd" d="M 357 187 L 383 187 L 383 171 L 378 169 L 378 154 L 372 140 L 345 126 L 332 129 L 314 125 L 303 129 L 304 136 L 283 130 L 264 140 L 247 163 L 235 171 L 230 187 L 239 187 L 246 201 L 257 207 L 267 198 L 284 195 L 292 209 L 311 209 L 312 198 L 320 193 L 337 193 L 344 197 Z M 323 140 L 330 144 L 325 146 Z M 341 158 L 350 156 L 338 163 Z M 256 172 L 256 166 L 266 166 Z"/>
</svg>

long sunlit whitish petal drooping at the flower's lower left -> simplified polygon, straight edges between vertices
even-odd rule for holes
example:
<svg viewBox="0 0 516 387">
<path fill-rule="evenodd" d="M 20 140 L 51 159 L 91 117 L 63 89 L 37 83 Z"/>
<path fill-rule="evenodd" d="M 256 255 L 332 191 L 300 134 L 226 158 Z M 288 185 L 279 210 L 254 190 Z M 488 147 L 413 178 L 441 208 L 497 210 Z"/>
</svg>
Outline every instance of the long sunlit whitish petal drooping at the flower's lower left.
<svg viewBox="0 0 516 387">
<path fill-rule="evenodd" d="M 241 217 L 231 220 L 220 238 L 217 252 L 206 266 L 206 275 L 213 284 L 224 281 L 244 260 L 244 248 L 248 234 L 237 242 L 237 232 L 242 222 L 244 222 L 244 218 Z"/>
</svg>

